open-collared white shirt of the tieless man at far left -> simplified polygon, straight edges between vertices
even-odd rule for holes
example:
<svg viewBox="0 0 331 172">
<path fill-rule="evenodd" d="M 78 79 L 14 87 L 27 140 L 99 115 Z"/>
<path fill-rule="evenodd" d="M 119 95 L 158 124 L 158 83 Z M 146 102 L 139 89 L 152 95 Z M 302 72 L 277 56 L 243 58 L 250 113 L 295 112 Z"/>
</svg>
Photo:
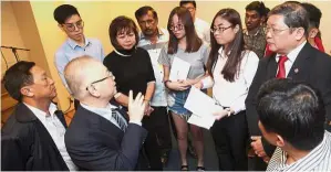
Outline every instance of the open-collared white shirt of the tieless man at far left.
<svg viewBox="0 0 331 172">
<path fill-rule="evenodd" d="M 24 105 L 34 114 L 34 116 L 46 128 L 69 170 L 76 171 L 77 166 L 72 162 L 64 144 L 65 128 L 63 123 L 60 121 L 60 119 L 58 118 L 58 116 L 55 115 L 55 111 L 58 110 L 56 106 L 54 104 L 51 104 L 49 108 L 50 114 L 48 115 L 46 112 L 35 107 L 32 107 L 28 104 Z"/>
</svg>

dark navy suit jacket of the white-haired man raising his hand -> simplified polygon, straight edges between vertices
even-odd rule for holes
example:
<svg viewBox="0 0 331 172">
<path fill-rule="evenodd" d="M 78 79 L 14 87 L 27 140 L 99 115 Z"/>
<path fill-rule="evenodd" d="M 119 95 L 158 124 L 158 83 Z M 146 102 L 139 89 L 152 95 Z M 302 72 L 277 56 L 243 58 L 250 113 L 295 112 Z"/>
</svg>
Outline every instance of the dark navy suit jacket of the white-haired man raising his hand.
<svg viewBox="0 0 331 172">
<path fill-rule="evenodd" d="M 66 150 L 80 170 L 137 169 L 147 131 L 128 123 L 125 132 L 100 115 L 79 106 L 65 133 Z M 141 170 L 141 168 L 138 168 Z"/>
</svg>

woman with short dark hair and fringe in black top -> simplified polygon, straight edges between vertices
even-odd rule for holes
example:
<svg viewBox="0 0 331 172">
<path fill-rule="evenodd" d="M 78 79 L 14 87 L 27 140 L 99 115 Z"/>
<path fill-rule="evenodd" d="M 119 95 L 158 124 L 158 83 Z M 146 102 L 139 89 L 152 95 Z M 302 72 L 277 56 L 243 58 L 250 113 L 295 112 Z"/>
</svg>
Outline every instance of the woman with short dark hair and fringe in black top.
<svg viewBox="0 0 331 172">
<path fill-rule="evenodd" d="M 151 170 L 163 170 L 159 150 L 157 148 L 156 135 L 151 130 L 149 114 L 153 109 L 149 106 L 155 89 L 155 77 L 148 52 L 137 47 L 138 31 L 135 22 L 127 17 L 115 18 L 108 29 L 110 39 L 114 51 L 106 55 L 103 64 L 116 77 L 117 94 L 116 101 L 127 109 L 128 92 L 133 90 L 135 97 L 142 93 L 144 97 L 145 117 L 143 127 L 148 130 L 144 148 L 151 163 Z"/>
</svg>

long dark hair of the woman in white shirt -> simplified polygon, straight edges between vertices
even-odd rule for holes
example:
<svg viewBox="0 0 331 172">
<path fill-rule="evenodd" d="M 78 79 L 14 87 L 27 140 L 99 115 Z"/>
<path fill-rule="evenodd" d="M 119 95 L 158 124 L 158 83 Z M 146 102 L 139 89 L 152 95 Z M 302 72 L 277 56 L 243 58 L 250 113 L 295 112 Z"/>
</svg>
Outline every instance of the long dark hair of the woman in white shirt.
<svg viewBox="0 0 331 172">
<path fill-rule="evenodd" d="M 225 54 L 228 56 L 228 61 L 221 71 L 221 74 L 224 75 L 224 78 L 226 80 L 235 82 L 235 76 L 238 69 L 240 68 L 240 63 L 244 56 L 242 51 L 245 51 L 245 42 L 244 42 L 240 14 L 234 9 L 221 9 L 214 17 L 210 29 L 213 29 L 215 19 L 218 17 L 231 23 L 232 28 L 235 28 L 236 25 L 239 26 L 239 31 L 236 33 L 235 40 L 231 43 L 229 43 L 227 50 L 224 50 Z M 218 44 L 216 42 L 216 39 L 214 37 L 214 34 L 210 34 L 210 46 L 211 50 L 209 54 L 209 60 L 207 62 L 207 71 L 209 75 L 214 77 L 213 69 L 218 58 L 218 50 L 220 47 L 224 47 L 224 45 Z"/>
</svg>

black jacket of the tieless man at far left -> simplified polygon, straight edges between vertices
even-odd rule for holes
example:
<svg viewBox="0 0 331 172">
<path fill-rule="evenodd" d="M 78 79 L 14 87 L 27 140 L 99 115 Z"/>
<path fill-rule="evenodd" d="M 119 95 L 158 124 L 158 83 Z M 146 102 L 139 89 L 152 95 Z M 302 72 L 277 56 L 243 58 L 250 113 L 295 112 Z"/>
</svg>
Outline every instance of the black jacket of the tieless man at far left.
<svg viewBox="0 0 331 172">
<path fill-rule="evenodd" d="M 55 115 L 66 128 L 62 111 Z M 1 170 L 69 171 L 46 128 L 24 104 L 17 105 L 1 130 Z"/>
</svg>

